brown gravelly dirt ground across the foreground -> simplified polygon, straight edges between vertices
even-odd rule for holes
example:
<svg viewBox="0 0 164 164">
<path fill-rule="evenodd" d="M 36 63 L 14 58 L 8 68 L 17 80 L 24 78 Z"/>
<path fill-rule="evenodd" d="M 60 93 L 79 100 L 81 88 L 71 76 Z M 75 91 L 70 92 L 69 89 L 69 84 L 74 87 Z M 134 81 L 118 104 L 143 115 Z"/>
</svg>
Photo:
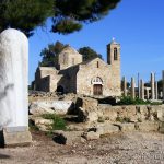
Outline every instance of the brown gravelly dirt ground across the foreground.
<svg viewBox="0 0 164 164">
<path fill-rule="evenodd" d="M 164 134 L 128 132 L 73 145 L 32 132 L 33 143 L 0 149 L 1 164 L 164 164 Z"/>
</svg>

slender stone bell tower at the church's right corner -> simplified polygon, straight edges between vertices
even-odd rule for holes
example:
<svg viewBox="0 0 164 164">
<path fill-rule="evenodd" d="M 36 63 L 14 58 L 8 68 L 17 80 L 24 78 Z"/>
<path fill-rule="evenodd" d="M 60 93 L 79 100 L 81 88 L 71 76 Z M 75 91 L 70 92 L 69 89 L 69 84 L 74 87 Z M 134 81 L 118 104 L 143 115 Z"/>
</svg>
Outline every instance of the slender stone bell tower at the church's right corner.
<svg viewBox="0 0 164 164">
<path fill-rule="evenodd" d="M 120 44 L 115 38 L 107 45 L 107 63 L 110 66 L 114 90 L 120 92 Z"/>
</svg>

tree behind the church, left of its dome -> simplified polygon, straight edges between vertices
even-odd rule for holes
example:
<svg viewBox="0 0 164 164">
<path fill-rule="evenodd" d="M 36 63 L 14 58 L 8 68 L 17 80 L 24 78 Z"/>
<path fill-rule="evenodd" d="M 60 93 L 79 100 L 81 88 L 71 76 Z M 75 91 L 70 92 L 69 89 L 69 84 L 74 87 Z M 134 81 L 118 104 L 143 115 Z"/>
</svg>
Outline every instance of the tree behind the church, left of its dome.
<svg viewBox="0 0 164 164">
<path fill-rule="evenodd" d="M 67 45 L 61 44 L 60 42 L 56 42 L 56 44 L 48 45 L 48 48 L 44 48 L 40 52 L 40 56 L 43 57 L 42 62 L 39 66 L 42 67 L 55 67 L 57 66 L 58 61 L 58 54 L 61 52 L 61 50 Z"/>
</svg>

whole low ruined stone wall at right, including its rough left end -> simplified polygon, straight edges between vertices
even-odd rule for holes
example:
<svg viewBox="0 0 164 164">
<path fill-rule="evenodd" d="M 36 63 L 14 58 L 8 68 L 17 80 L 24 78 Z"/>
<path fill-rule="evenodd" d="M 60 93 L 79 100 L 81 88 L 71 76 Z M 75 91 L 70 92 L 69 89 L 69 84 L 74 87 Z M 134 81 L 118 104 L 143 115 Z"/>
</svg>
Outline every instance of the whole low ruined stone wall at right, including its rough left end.
<svg viewBox="0 0 164 164">
<path fill-rule="evenodd" d="M 80 102 L 80 103 L 79 103 Z M 79 98 L 79 120 L 99 126 L 114 125 L 121 131 L 164 132 L 164 105 L 122 105 L 98 104 L 93 98 Z"/>
</svg>

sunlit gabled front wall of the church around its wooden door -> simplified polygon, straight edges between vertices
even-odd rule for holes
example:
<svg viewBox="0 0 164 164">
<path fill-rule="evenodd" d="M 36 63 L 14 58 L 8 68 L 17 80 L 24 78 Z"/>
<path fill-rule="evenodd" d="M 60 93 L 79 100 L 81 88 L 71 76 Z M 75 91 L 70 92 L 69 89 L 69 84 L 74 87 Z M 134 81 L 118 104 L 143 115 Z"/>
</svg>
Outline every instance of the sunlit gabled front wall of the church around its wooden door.
<svg viewBox="0 0 164 164">
<path fill-rule="evenodd" d="M 98 62 L 98 68 L 97 68 Z M 92 80 L 99 77 L 103 80 L 103 95 L 104 96 L 119 96 L 120 86 L 118 85 L 118 79 L 114 79 L 112 74 L 112 68 L 101 59 L 95 59 L 87 65 L 81 65 L 77 74 L 77 93 L 93 95 Z M 116 85 L 117 83 L 117 85 Z"/>
</svg>

